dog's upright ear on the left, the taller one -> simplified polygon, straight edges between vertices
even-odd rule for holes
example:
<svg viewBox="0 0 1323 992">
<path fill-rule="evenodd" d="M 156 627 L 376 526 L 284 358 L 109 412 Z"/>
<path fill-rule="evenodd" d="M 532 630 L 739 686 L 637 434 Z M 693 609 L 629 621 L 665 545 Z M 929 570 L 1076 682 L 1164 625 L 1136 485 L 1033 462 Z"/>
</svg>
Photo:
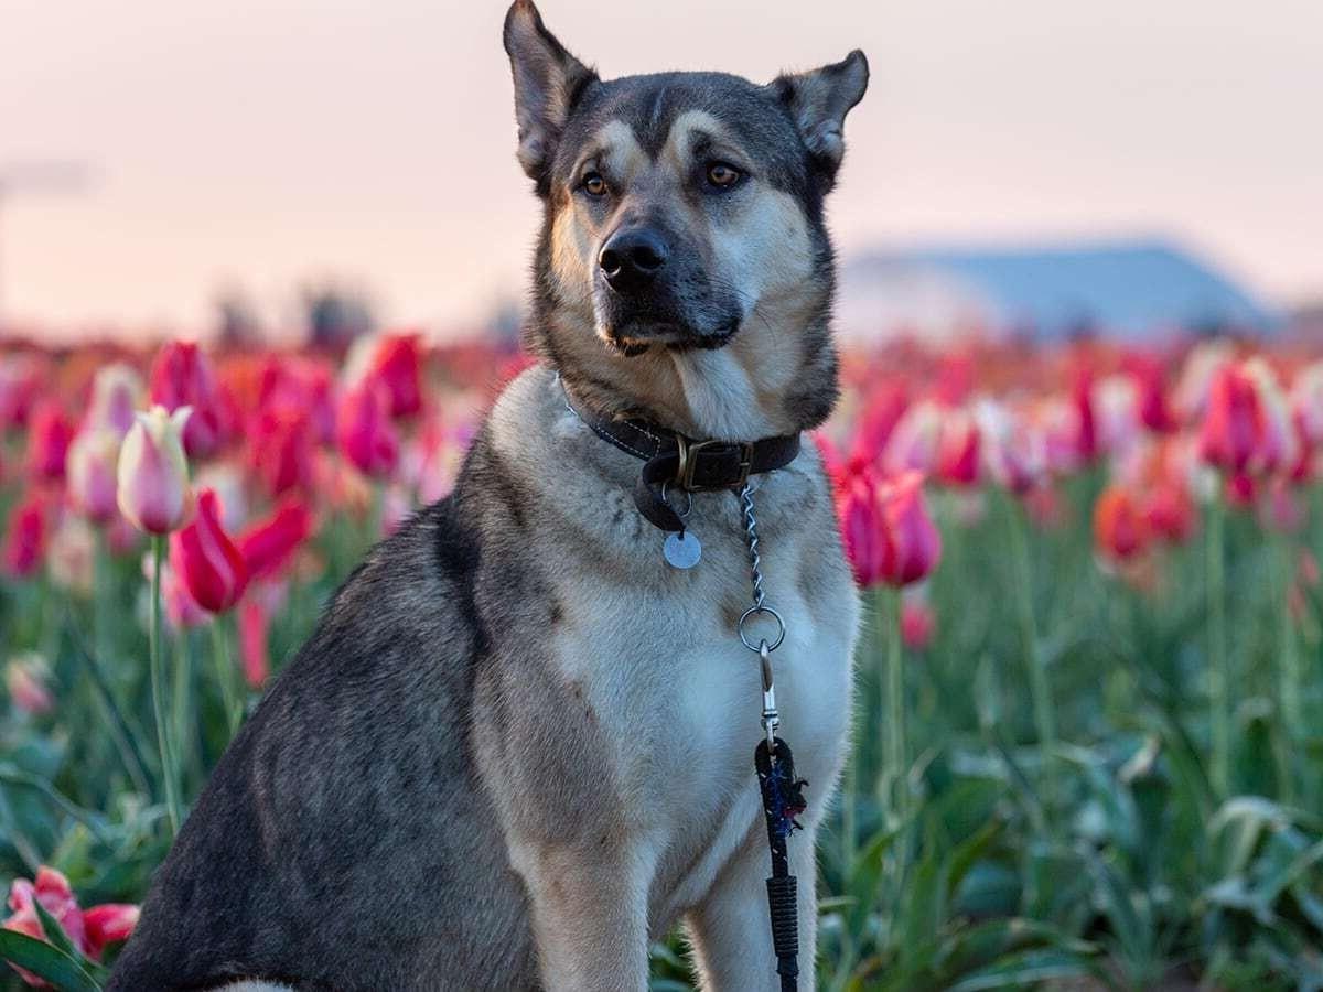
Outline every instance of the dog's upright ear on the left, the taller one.
<svg viewBox="0 0 1323 992">
<path fill-rule="evenodd" d="M 515 75 L 519 163 L 541 188 L 574 101 L 597 73 L 546 30 L 531 0 L 511 4 L 504 41 Z"/>
</svg>

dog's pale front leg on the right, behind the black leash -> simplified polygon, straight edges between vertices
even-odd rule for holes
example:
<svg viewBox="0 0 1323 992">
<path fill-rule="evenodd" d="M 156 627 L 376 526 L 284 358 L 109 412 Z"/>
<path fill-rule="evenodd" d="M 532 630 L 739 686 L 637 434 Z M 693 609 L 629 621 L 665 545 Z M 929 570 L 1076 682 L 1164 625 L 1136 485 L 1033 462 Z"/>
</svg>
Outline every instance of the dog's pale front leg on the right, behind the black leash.
<svg viewBox="0 0 1323 992">
<path fill-rule="evenodd" d="M 800 992 L 812 992 L 815 985 L 816 833 L 812 825 L 789 841 L 790 872 L 798 878 Z M 775 992 L 781 988 L 767 915 L 769 874 L 771 856 L 759 819 L 757 829 L 717 876 L 706 898 L 685 918 L 704 992 Z"/>
</svg>

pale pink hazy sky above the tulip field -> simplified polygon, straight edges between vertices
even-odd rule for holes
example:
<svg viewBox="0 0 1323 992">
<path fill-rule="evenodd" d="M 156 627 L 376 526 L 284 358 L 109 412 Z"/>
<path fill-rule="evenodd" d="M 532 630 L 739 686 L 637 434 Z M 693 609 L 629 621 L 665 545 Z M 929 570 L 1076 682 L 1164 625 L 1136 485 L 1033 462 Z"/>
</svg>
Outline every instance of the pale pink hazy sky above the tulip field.
<svg viewBox="0 0 1323 992">
<path fill-rule="evenodd" d="M 220 283 L 269 313 L 321 272 L 445 325 L 523 291 L 496 0 L 0 0 L 12 319 L 200 328 Z M 844 249 L 1167 231 L 1277 299 L 1323 288 L 1318 0 L 545 0 L 605 75 L 755 79 L 860 46 L 831 209 Z"/>
</svg>

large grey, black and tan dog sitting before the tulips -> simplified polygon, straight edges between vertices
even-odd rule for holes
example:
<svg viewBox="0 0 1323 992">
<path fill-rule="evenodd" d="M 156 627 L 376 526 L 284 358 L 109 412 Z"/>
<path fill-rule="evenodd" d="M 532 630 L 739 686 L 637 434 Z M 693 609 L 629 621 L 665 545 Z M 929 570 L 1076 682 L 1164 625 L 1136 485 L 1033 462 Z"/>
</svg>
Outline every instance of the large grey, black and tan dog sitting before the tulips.
<svg viewBox="0 0 1323 992">
<path fill-rule="evenodd" d="M 368 556 L 235 737 L 114 992 L 643 992 L 648 942 L 676 923 L 704 988 L 779 987 L 759 663 L 736 632 L 741 504 L 675 479 L 664 499 L 692 497 L 703 558 L 672 567 L 631 499 L 639 460 L 599 433 L 794 439 L 828 415 L 823 198 L 868 66 L 853 52 L 766 86 L 603 81 L 528 0 L 504 41 L 545 212 L 541 364 L 496 402 L 454 495 Z M 750 484 L 787 630 L 782 725 L 811 783 L 790 839 L 811 988 L 814 836 L 845 754 L 857 602 L 814 446 Z"/>
</svg>

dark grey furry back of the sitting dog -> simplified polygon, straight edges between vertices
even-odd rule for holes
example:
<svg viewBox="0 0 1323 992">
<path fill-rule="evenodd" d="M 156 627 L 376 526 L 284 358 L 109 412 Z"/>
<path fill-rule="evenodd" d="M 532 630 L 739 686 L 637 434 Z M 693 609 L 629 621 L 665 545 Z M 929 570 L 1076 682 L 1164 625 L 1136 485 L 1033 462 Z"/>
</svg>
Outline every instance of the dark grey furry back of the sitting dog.
<svg viewBox="0 0 1323 992">
<path fill-rule="evenodd" d="M 107 992 L 536 985 L 467 754 L 484 635 L 462 516 L 423 511 L 336 595 L 184 824 Z"/>
</svg>

